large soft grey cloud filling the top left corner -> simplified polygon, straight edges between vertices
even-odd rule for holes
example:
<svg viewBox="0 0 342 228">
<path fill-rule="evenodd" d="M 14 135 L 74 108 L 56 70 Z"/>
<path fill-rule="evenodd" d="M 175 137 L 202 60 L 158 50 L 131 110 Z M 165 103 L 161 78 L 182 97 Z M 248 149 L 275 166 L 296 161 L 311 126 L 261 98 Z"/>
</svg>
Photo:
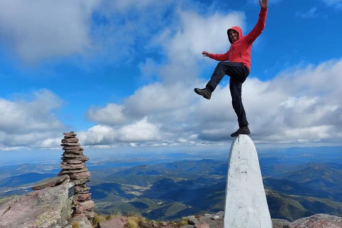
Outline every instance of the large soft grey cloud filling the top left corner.
<svg viewBox="0 0 342 228">
<path fill-rule="evenodd" d="M 3 0 L 0 39 L 27 63 L 82 54 L 91 45 L 91 14 L 99 2 Z"/>
</svg>

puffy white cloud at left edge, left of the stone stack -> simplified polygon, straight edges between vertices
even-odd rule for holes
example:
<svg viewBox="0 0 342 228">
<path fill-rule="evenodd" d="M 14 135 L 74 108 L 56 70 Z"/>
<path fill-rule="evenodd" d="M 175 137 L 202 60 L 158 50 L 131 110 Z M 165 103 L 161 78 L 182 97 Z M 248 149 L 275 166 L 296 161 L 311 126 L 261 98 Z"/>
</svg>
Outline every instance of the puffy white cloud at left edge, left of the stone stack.
<svg viewBox="0 0 342 228">
<path fill-rule="evenodd" d="M 61 105 L 60 98 L 44 89 L 14 100 L 0 98 L 0 148 L 58 146 L 55 136 L 64 126 L 54 110 Z"/>
</svg>

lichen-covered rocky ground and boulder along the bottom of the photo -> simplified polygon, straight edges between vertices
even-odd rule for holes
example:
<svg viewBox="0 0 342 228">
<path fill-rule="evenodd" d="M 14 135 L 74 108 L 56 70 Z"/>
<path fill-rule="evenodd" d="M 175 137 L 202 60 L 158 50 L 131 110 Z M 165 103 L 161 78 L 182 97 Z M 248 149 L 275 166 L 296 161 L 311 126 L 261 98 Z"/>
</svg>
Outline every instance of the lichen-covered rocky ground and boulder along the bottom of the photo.
<svg viewBox="0 0 342 228">
<path fill-rule="evenodd" d="M 51 183 L 47 184 L 50 186 Z M 222 211 L 202 216 L 188 216 L 178 222 L 148 221 L 141 216 L 119 216 L 104 219 L 92 226 L 83 214 L 70 218 L 73 197 L 74 184 L 63 183 L 24 196 L 1 199 L 0 228 L 223 228 L 224 226 Z M 283 219 L 272 219 L 272 222 L 274 228 L 342 228 L 342 217 L 327 214 L 316 214 L 293 222 Z"/>
</svg>

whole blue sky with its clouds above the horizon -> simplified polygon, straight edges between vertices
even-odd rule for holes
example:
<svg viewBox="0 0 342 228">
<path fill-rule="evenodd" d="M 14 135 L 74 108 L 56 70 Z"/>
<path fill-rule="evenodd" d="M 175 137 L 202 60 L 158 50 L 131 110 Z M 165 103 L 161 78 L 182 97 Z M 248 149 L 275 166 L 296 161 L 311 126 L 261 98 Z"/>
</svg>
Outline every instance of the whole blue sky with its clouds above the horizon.
<svg viewBox="0 0 342 228">
<path fill-rule="evenodd" d="M 204 87 L 243 1 L 1 0 L 0 150 L 218 146 L 237 129 L 226 77 Z M 341 0 L 269 1 L 242 98 L 256 143 L 340 145 Z"/>
</svg>

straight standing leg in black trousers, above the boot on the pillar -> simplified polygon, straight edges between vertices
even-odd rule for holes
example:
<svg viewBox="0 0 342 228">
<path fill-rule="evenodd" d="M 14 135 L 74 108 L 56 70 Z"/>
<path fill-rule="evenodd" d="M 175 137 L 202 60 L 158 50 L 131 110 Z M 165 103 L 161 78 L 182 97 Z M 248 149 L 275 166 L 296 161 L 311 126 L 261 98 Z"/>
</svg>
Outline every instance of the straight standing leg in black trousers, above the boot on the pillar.
<svg viewBox="0 0 342 228">
<path fill-rule="evenodd" d="M 242 82 L 234 80 L 233 78 L 230 78 L 229 89 L 230 89 L 230 94 L 232 96 L 233 109 L 237 115 L 239 128 L 248 126 L 246 112 L 242 105 L 242 97 L 241 97 Z"/>
</svg>

